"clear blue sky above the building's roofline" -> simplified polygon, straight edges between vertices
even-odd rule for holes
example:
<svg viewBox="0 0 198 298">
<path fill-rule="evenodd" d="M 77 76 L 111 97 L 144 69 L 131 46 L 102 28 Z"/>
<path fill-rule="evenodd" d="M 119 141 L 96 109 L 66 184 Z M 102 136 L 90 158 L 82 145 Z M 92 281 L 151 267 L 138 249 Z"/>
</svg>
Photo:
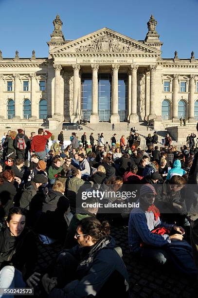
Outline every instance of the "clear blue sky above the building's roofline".
<svg viewBox="0 0 198 298">
<path fill-rule="evenodd" d="M 163 42 L 162 57 L 198 58 L 198 0 L 0 0 L 0 50 L 3 57 L 47 57 L 56 14 L 66 39 L 108 27 L 143 40 L 153 14 Z"/>
</svg>

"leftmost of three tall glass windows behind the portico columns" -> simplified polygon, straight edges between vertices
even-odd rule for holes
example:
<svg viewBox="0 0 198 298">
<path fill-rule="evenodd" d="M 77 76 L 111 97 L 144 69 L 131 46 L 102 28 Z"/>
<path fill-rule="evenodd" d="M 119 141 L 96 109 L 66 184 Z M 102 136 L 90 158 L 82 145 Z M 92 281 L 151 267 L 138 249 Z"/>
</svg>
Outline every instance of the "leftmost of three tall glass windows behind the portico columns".
<svg viewBox="0 0 198 298">
<path fill-rule="evenodd" d="M 81 80 L 81 116 L 82 120 L 90 121 L 92 111 L 92 75 L 82 74 Z"/>
</svg>

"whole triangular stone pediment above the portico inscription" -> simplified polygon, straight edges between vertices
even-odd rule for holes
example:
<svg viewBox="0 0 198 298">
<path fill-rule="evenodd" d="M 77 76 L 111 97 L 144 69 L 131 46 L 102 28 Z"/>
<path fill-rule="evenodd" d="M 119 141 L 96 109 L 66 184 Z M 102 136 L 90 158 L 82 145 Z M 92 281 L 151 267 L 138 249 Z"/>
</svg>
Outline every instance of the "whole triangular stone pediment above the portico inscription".
<svg viewBox="0 0 198 298">
<path fill-rule="evenodd" d="M 137 41 L 130 37 L 126 37 L 108 28 L 103 28 L 84 37 L 72 40 L 67 44 L 54 48 L 51 56 L 67 56 L 67 54 L 82 55 L 88 53 L 98 54 L 146 54 L 161 55 L 158 51 L 150 46 L 145 45 L 141 41 Z"/>
</svg>

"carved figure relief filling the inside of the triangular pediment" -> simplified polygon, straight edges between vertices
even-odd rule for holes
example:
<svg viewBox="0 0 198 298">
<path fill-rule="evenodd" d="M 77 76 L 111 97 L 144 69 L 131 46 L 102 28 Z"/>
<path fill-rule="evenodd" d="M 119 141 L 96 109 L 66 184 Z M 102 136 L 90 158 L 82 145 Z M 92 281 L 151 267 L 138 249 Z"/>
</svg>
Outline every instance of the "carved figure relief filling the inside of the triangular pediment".
<svg viewBox="0 0 198 298">
<path fill-rule="evenodd" d="M 121 42 L 115 37 L 102 33 L 90 41 L 90 43 L 81 45 L 75 49 L 75 52 L 97 52 L 97 53 L 130 53 L 142 52 L 135 47 Z"/>
</svg>

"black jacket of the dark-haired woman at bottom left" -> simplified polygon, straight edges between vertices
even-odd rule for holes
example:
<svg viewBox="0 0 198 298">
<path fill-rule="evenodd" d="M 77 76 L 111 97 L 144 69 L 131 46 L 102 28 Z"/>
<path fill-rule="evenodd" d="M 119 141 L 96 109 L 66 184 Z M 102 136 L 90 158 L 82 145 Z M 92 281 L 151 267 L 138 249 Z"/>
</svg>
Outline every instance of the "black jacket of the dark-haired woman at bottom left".
<svg viewBox="0 0 198 298">
<path fill-rule="evenodd" d="M 31 230 L 25 227 L 18 237 L 11 236 L 8 227 L 0 231 L 0 269 L 13 265 L 26 281 L 34 273 L 36 261 L 36 239 Z"/>
</svg>

